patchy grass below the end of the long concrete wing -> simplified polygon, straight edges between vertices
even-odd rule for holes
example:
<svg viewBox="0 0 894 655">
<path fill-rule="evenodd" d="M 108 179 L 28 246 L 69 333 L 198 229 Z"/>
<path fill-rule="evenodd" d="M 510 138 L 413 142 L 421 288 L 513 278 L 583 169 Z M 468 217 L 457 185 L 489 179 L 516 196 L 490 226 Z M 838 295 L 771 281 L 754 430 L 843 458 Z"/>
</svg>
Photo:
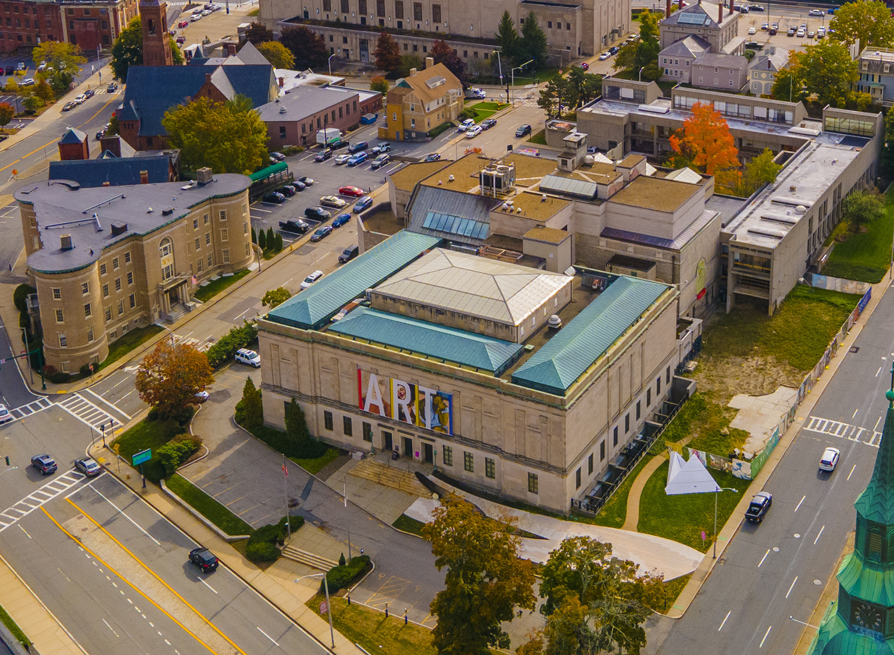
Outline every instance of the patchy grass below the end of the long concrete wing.
<svg viewBox="0 0 894 655">
<path fill-rule="evenodd" d="M 810 371 L 860 296 L 798 284 L 775 315 L 740 303 L 704 333 L 707 357 L 775 357 Z"/>
</svg>

